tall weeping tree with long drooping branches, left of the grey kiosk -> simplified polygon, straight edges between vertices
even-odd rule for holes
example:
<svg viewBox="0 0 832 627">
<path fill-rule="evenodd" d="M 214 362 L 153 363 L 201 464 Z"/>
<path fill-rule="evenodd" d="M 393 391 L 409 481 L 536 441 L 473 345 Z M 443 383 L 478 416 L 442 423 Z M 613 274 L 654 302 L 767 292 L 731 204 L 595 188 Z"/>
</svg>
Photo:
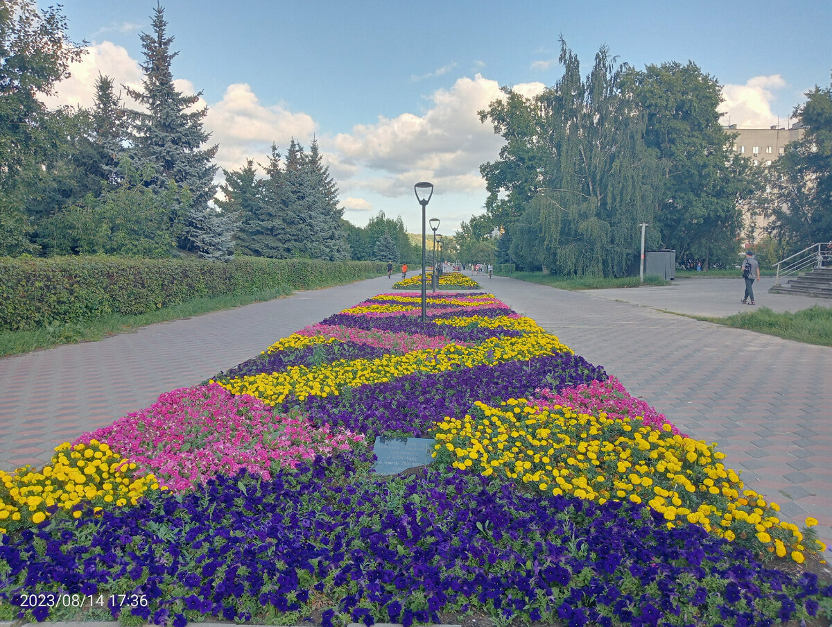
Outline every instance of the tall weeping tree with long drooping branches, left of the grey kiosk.
<svg viewBox="0 0 832 627">
<path fill-rule="evenodd" d="M 658 202 L 646 116 L 622 94 L 626 66 L 607 47 L 585 78 L 563 39 L 559 60 L 554 87 L 532 98 L 510 93 L 480 112 L 507 140 L 500 161 L 481 172 L 489 192 L 522 207 L 507 225 L 515 260 L 563 275 L 623 276 L 637 261 L 639 224 Z"/>
</svg>

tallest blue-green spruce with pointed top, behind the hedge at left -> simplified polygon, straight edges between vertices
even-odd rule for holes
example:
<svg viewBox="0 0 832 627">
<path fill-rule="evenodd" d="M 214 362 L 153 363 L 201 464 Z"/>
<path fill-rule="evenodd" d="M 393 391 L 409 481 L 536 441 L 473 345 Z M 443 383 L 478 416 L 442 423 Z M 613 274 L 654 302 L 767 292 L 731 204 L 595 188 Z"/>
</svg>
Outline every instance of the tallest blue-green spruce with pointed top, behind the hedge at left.
<svg viewBox="0 0 832 627">
<path fill-rule="evenodd" d="M 145 54 L 142 90 L 127 88 L 130 97 L 144 107 L 131 112 L 134 165 L 142 172 L 152 168 L 155 176 L 150 186 L 154 190 L 164 189 L 166 182 L 172 181 L 189 192 L 190 202 L 182 197 L 181 215 L 173 211 L 170 216 L 171 223 L 184 224 L 179 246 L 207 258 L 226 257 L 232 233 L 225 229 L 233 228 L 233 221 L 209 207 L 216 191 L 217 167 L 212 160 L 217 146 L 203 147 L 210 138 L 202 128 L 207 108 L 191 110 L 202 92 L 186 96 L 174 87 L 171 62 L 178 52 L 171 52 L 174 38 L 166 35 L 161 6 L 156 7 L 152 26 L 152 34 L 141 33 Z"/>
</svg>

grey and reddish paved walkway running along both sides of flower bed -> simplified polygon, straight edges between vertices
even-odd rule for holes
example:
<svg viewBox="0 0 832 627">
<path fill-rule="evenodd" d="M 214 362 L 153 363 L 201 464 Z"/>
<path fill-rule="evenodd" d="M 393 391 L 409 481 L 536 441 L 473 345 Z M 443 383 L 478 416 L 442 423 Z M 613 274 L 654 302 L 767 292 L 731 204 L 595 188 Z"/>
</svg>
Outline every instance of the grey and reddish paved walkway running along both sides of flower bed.
<svg viewBox="0 0 832 627">
<path fill-rule="evenodd" d="M 832 301 L 766 293 L 796 311 Z M 148 326 L 103 341 L 0 359 L 0 468 L 46 462 L 52 448 L 159 394 L 235 366 L 272 341 L 388 291 L 386 277 Z M 633 396 L 696 438 L 716 441 L 750 488 L 832 545 L 832 348 L 676 316 L 748 311 L 741 280 L 569 292 L 504 277 L 483 287 L 604 366 Z M 664 311 L 659 311 L 664 310 Z"/>
</svg>

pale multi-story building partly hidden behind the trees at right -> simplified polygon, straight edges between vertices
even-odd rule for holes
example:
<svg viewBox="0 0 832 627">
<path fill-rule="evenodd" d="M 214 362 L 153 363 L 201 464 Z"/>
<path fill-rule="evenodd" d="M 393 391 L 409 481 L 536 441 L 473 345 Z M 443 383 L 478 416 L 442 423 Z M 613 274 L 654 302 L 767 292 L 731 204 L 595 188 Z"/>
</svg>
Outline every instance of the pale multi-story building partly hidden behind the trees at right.
<svg viewBox="0 0 832 627">
<path fill-rule="evenodd" d="M 800 122 L 791 127 L 774 126 L 769 128 L 741 128 L 736 124 L 725 127 L 726 132 L 735 134 L 733 141 L 735 154 L 750 159 L 755 166 L 770 166 L 778 157 L 785 154 L 785 145 L 796 142 L 803 137 L 805 127 Z M 756 207 L 743 207 L 745 248 L 754 245 L 757 236 L 763 232 L 768 221 Z M 753 226 L 753 229 L 751 228 Z M 745 235 L 748 237 L 745 237 Z"/>
</svg>

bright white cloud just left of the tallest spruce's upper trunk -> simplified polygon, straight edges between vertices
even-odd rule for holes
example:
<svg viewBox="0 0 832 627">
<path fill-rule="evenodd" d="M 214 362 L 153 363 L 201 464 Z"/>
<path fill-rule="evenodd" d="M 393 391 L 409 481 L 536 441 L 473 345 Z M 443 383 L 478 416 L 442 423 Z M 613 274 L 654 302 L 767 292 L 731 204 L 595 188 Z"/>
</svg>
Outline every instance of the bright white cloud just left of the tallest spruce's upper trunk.
<svg viewBox="0 0 832 627">
<path fill-rule="evenodd" d="M 47 107 L 92 107 L 99 73 L 113 80 L 116 94 L 123 92 L 122 85 L 141 89 L 143 77 L 139 63 L 130 57 L 126 48 L 116 46 L 112 42 L 87 47 L 87 54 L 83 55 L 80 61 L 72 63 L 69 71 L 71 76 L 57 84 L 55 95 L 43 98 Z M 126 94 L 122 93 L 121 102 L 127 99 Z"/>
</svg>

